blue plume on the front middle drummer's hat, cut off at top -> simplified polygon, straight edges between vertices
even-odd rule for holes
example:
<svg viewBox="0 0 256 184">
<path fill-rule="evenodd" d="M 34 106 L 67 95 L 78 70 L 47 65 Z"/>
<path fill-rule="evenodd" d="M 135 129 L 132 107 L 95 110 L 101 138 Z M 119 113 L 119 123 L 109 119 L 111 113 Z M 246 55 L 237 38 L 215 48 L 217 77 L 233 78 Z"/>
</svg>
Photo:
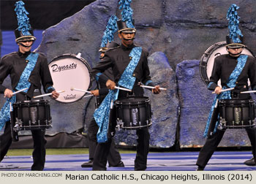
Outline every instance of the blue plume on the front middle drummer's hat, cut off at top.
<svg viewBox="0 0 256 184">
<path fill-rule="evenodd" d="M 127 28 L 135 28 L 135 26 L 132 24 L 132 15 L 133 10 L 130 7 L 132 0 L 120 0 L 118 4 L 120 4 L 119 9 L 122 9 L 121 11 L 121 18 L 122 21 L 124 21 L 127 24 Z"/>
</svg>

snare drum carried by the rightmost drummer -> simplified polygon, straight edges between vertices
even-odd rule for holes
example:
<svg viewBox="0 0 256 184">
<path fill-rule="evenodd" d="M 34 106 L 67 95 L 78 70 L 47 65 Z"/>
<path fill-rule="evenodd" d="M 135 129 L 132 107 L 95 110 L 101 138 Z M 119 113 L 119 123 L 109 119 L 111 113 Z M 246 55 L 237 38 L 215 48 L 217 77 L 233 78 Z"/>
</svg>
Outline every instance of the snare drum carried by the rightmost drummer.
<svg viewBox="0 0 256 184">
<path fill-rule="evenodd" d="M 225 99 L 219 101 L 219 122 L 224 129 L 255 126 L 254 100 Z"/>
</svg>

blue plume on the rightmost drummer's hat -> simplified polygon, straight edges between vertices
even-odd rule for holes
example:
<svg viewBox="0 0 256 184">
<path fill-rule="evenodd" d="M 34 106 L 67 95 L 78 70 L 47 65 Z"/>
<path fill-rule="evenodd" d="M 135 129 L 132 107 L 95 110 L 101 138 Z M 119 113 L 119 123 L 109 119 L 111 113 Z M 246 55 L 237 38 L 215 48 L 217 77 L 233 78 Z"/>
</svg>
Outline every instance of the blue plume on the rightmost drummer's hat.
<svg viewBox="0 0 256 184">
<path fill-rule="evenodd" d="M 232 4 L 231 7 L 227 10 L 227 20 L 228 21 L 228 29 L 230 31 L 230 38 L 232 38 L 234 43 L 241 43 L 241 40 L 238 38 L 240 35 L 241 37 L 244 37 L 241 33 L 241 30 L 239 29 L 239 16 L 236 10 L 239 9 L 239 7 L 236 4 Z"/>
</svg>

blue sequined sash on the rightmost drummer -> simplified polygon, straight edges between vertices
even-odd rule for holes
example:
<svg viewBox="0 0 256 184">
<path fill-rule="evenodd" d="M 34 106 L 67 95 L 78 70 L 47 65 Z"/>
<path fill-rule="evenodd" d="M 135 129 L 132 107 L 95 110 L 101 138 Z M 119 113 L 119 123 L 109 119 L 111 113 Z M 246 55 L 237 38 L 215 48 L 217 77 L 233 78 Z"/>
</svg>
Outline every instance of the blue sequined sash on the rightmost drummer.
<svg viewBox="0 0 256 184">
<path fill-rule="evenodd" d="M 230 77 L 228 78 L 228 81 L 227 81 L 227 87 L 228 88 L 235 88 L 236 80 L 238 79 L 239 75 L 241 74 L 242 70 L 244 69 L 247 58 L 248 58 L 248 55 L 240 55 L 239 58 L 237 59 L 238 64 L 236 65 L 236 68 L 233 70 L 233 72 L 230 74 Z M 212 82 L 209 83 L 208 86 L 210 86 L 211 84 L 212 84 Z M 224 86 L 222 89 L 225 89 L 225 88 L 226 88 L 226 86 Z M 203 137 L 207 136 L 208 129 L 209 129 L 209 126 L 210 126 L 210 123 L 211 123 L 211 116 L 212 116 L 212 113 L 214 112 L 214 106 L 217 102 L 217 99 L 231 99 L 231 92 L 230 91 L 225 91 L 225 92 L 222 92 L 219 95 L 215 96 L 214 102 L 211 105 L 210 113 L 208 115 L 208 119 L 207 119 L 207 123 L 206 123 L 206 129 L 203 133 Z M 219 120 L 217 121 L 217 123 L 215 125 L 214 133 L 217 131 L 217 126 L 218 125 L 219 125 Z"/>
</svg>

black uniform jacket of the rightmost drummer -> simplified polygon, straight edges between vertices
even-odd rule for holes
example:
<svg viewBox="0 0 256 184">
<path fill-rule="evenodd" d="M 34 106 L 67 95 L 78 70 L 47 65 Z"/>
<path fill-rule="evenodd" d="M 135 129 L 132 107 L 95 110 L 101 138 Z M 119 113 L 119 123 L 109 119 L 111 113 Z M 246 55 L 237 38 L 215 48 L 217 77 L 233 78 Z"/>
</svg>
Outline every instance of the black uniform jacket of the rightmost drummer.
<svg viewBox="0 0 256 184">
<path fill-rule="evenodd" d="M 236 68 L 237 57 L 231 57 L 229 54 L 219 55 L 214 60 L 214 68 L 211 73 L 210 82 L 213 82 L 208 89 L 214 90 L 217 87 L 217 82 L 220 79 L 222 87 L 226 85 L 230 74 Z M 238 79 L 236 80 L 236 89 L 238 91 L 248 91 L 248 79 L 252 90 L 256 88 L 256 60 L 248 55 L 246 64 Z"/>
</svg>

